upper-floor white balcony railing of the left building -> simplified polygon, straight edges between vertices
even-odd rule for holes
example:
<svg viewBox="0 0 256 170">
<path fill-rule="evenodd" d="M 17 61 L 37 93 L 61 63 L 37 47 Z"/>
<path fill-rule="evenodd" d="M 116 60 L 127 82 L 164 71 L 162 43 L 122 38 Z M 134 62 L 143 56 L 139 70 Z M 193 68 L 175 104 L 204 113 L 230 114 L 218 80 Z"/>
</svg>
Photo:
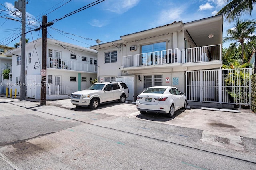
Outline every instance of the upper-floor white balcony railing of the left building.
<svg viewBox="0 0 256 170">
<path fill-rule="evenodd" d="M 97 73 L 97 65 L 79 63 L 56 58 L 47 58 L 47 68 Z"/>
</svg>

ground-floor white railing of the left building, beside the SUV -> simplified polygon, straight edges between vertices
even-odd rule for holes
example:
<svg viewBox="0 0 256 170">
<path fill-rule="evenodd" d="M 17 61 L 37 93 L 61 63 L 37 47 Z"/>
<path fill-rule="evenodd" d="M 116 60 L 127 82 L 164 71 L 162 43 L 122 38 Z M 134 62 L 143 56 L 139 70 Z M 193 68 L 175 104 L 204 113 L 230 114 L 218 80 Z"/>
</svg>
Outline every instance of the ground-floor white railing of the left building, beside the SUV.
<svg viewBox="0 0 256 170">
<path fill-rule="evenodd" d="M 46 87 L 46 95 L 71 95 L 68 85 L 49 85 Z"/>
</svg>

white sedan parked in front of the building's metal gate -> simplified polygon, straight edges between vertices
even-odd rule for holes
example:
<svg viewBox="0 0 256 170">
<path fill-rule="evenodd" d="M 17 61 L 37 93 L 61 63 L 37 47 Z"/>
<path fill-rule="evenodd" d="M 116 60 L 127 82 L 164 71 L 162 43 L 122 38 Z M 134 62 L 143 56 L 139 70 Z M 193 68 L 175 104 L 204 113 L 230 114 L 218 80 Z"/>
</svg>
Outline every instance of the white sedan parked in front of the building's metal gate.
<svg viewBox="0 0 256 170">
<path fill-rule="evenodd" d="M 167 113 L 173 117 L 180 108 L 187 108 L 187 98 L 176 87 L 149 87 L 137 96 L 136 107 L 140 113 Z"/>
</svg>

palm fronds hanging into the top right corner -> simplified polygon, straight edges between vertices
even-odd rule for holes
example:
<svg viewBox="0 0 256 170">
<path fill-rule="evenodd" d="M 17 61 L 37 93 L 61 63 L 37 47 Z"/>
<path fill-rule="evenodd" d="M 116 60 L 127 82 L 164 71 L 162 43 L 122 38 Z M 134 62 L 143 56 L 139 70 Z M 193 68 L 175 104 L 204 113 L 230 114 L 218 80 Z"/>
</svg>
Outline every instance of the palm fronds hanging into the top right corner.
<svg viewBox="0 0 256 170">
<path fill-rule="evenodd" d="M 252 16 L 253 6 L 256 5 L 256 0 L 226 0 L 228 3 L 216 15 L 223 14 L 228 22 L 232 22 L 240 18 L 242 14 L 250 14 Z"/>
</svg>

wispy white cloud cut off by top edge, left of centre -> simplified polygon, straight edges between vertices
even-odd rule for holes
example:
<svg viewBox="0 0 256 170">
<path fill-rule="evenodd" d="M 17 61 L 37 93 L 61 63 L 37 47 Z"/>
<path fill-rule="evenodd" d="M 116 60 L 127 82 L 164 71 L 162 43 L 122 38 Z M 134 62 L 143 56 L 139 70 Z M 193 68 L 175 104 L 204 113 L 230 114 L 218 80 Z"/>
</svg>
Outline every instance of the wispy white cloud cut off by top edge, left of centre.
<svg viewBox="0 0 256 170">
<path fill-rule="evenodd" d="M 109 7 L 107 7 L 106 10 L 122 14 L 136 6 L 139 3 L 139 0 L 113 0 L 108 2 L 110 3 L 108 3 L 107 6 Z"/>
</svg>

